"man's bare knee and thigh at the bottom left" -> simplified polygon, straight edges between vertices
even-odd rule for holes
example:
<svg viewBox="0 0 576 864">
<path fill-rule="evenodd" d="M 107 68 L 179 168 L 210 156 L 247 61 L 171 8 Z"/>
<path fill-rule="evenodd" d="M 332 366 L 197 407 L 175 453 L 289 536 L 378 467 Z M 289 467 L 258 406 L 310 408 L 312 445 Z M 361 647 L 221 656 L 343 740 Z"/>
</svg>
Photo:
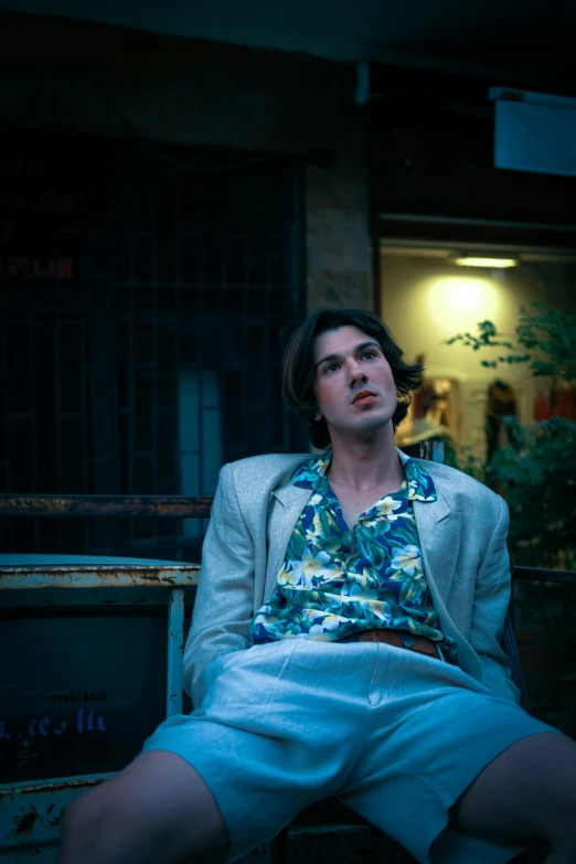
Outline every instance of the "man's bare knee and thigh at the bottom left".
<svg viewBox="0 0 576 864">
<path fill-rule="evenodd" d="M 148 750 L 67 810 L 57 864 L 180 864 L 224 851 L 212 792 L 184 759 Z"/>
</svg>

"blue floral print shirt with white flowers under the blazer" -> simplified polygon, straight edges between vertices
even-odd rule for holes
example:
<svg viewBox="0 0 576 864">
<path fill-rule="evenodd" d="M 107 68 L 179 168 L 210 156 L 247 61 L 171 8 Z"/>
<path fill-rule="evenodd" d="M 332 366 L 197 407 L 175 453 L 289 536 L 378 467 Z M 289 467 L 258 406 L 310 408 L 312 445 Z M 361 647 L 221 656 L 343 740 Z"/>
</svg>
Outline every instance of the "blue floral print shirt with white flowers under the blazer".
<svg viewBox="0 0 576 864">
<path fill-rule="evenodd" d="M 401 451 L 406 480 L 358 519 L 353 536 L 327 478 L 332 452 L 313 458 L 292 482 L 312 495 L 292 532 L 273 596 L 254 616 L 253 643 L 278 639 L 332 641 L 390 628 L 426 636 L 454 655 L 438 629 L 424 573 L 414 501 L 436 501 L 428 472 Z"/>
</svg>

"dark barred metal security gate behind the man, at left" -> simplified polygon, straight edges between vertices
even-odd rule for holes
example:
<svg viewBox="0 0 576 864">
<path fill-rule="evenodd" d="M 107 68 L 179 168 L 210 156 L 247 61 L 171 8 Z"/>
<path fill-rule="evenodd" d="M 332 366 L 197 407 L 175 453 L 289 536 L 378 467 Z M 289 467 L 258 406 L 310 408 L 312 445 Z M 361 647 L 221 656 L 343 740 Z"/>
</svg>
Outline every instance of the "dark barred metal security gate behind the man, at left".
<svg viewBox="0 0 576 864">
<path fill-rule="evenodd" d="M 224 462 L 306 447 L 280 396 L 298 164 L 19 132 L 0 171 L 1 491 L 213 494 Z M 190 561 L 204 529 L 3 520 L 0 546 Z"/>
</svg>

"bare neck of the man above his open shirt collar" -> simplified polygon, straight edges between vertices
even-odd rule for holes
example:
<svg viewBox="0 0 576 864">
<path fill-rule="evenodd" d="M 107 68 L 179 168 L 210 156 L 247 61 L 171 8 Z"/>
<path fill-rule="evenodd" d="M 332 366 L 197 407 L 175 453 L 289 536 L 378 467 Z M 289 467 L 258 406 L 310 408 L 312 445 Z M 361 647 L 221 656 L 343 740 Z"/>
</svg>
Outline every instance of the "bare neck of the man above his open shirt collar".
<svg viewBox="0 0 576 864">
<path fill-rule="evenodd" d="M 405 473 L 394 445 L 392 425 L 373 438 L 341 439 L 332 434 L 330 484 L 365 493 L 373 489 L 399 489 Z"/>
</svg>

